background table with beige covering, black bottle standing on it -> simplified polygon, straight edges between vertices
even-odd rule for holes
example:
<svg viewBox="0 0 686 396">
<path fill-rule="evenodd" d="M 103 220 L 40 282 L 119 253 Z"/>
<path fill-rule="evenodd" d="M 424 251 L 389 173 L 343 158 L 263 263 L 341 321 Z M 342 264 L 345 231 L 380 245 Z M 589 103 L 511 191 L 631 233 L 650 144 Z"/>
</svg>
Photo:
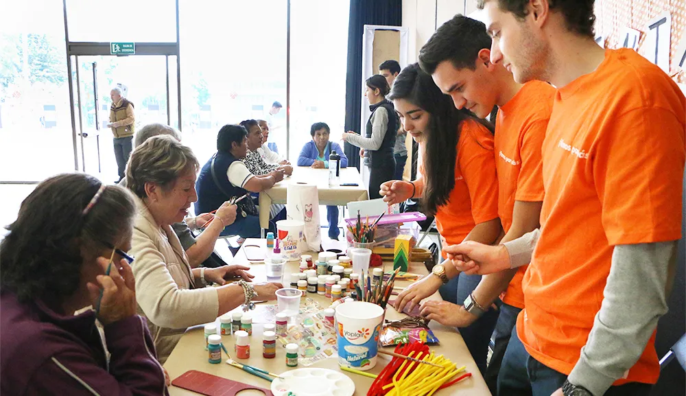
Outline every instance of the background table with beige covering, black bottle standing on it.
<svg viewBox="0 0 686 396">
<path fill-rule="evenodd" d="M 368 199 L 367 188 L 354 166 L 341 169 L 340 183 L 357 183 L 357 186 L 329 187 L 329 170 L 309 166 L 294 166 L 293 174 L 286 176 L 274 187 L 259 193 L 259 225 L 269 228 L 269 209 L 272 204 L 286 203 L 286 189 L 295 183 L 316 184 L 320 205 L 346 205 L 348 202 Z"/>
</svg>

